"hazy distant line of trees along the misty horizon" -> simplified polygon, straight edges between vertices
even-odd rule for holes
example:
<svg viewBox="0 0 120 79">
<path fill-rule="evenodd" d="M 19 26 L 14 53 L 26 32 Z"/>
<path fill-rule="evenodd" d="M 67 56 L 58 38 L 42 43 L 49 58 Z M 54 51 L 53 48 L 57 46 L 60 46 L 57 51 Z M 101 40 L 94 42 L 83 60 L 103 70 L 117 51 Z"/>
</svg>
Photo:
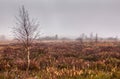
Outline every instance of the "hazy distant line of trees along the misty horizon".
<svg viewBox="0 0 120 79">
<path fill-rule="evenodd" d="M 79 37 L 71 39 L 69 37 L 59 37 L 58 35 L 55 36 L 45 36 L 39 38 L 39 40 L 77 40 L 77 41 L 118 41 L 119 38 L 116 37 L 107 37 L 107 38 L 102 38 L 99 37 L 98 34 L 93 35 L 92 33 L 90 36 L 85 35 L 84 33 L 81 34 Z"/>
</svg>

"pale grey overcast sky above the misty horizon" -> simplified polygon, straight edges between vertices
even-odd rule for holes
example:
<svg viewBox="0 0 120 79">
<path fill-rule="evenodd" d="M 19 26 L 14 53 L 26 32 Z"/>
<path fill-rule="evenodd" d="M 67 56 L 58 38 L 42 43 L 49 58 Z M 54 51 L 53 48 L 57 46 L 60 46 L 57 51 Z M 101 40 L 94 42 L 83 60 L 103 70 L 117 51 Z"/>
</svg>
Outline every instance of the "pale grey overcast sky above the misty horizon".
<svg viewBox="0 0 120 79">
<path fill-rule="evenodd" d="M 120 0 L 0 0 L 0 35 L 12 37 L 21 5 L 39 20 L 42 36 L 120 37 Z"/>
</svg>

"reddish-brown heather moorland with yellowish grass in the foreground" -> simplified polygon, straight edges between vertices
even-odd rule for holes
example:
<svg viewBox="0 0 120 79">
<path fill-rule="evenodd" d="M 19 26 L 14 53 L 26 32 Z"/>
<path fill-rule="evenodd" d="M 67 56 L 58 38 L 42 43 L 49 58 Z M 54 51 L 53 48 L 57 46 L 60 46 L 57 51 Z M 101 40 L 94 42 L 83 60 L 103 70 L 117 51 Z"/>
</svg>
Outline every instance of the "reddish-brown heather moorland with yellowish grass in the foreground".
<svg viewBox="0 0 120 79">
<path fill-rule="evenodd" d="M 0 79 L 120 79 L 119 42 L 41 42 L 27 55 L 20 44 L 0 45 Z"/>
</svg>

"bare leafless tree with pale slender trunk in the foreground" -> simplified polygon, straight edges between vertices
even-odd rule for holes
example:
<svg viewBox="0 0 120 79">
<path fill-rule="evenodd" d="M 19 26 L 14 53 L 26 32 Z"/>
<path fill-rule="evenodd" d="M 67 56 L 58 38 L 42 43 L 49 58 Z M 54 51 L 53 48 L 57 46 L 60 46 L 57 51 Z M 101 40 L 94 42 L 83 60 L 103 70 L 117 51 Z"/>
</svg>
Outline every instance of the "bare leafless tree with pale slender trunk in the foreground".
<svg viewBox="0 0 120 79">
<path fill-rule="evenodd" d="M 39 23 L 30 19 L 28 11 L 22 6 L 16 17 L 16 26 L 13 28 L 15 38 L 23 45 L 27 53 L 27 70 L 30 67 L 30 48 L 35 39 L 39 37 Z"/>
</svg>

